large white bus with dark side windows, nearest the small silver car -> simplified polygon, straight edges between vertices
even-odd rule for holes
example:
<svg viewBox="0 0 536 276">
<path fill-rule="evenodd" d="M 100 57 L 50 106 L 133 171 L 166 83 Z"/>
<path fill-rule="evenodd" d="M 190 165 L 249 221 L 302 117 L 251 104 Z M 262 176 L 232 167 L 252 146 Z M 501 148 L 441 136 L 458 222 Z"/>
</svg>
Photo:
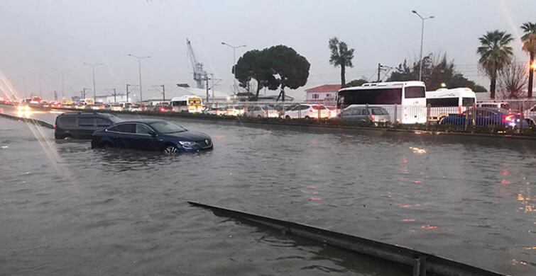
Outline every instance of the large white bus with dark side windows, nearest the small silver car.
<svg viewBox="0 0 536 276">
<path fill-rule="evenodd" d="M 393 81 L 342 88 L 337 108 L 349 105 L 380 106 L 388 110 L 391 122 L 426 122 L 426 87 L 422 81 Z"/>
</svg>

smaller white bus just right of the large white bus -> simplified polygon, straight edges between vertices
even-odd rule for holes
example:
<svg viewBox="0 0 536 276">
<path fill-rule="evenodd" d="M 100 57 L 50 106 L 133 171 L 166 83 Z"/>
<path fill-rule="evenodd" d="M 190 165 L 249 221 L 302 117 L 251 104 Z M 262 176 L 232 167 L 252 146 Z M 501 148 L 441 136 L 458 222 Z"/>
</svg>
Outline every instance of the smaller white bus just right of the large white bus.
<svg viewBox="0 0 536 276">
<path fill-rule="evenodd" d="M 430 120 L 439 121 L 449 114 L 462 114 L 474 106 L 476 95 L 471 88 L 439 88 L 426 93 L 426 105 L 430 105 Z"/>
</svg>

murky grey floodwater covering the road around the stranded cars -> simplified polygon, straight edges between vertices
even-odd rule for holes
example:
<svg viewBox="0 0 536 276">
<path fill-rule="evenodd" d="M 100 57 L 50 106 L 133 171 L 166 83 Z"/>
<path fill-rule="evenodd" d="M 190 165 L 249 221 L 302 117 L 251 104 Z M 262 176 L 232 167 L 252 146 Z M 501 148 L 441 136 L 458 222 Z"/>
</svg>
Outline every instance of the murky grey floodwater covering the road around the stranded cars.
<svg viewBox="0 0 536 276">
<path fill-rule="evenodd" d="M 173 120 L 214 150 L 93 150 L 0 117 L 0 275 L 401 274 L 187 200 L 536 274 L 534 146 Z"/>
</svg>

